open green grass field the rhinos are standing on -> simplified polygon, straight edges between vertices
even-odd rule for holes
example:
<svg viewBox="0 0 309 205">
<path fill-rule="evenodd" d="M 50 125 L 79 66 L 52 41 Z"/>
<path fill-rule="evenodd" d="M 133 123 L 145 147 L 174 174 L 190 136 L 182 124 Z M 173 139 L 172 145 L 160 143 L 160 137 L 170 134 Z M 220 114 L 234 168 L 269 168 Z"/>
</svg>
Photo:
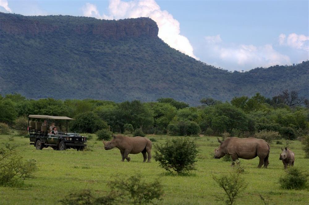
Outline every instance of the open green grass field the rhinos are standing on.
<svg viewBox="0 0 309 205">
<path fill-rule="evenodd" d="M 232 171 L 231 162 L 214 159 L 214 149 L 219 146 L 216 137 L 196 137 L 199 153 L 195 171 L 188 176 L 166 174 L 159 163 L 152 158 L 151 163 L 143 163 L 142 154 L 130 154 L 130 162 L 121 162 L 120 151 L 104 150 L 101 141 L 90 140 L 92 151 L 78 152 L 70 149 L 55 151 L 51 148 L 36 150 L 29 145 L 29 139 L 1 135 L 0 144 L 10 142 L 17 145 L 25 159 L 35 159 L 38 171 L 35 178 L 25 180 L 22 188 L 0 187 L 0 204 L 60 204 L 66 195 L 82 189 L 90 189 L 94 195 L 108 193 L 108 182 L 115 177 L 128 178 L 139 173 L 145 181 L 152 182 L 159 178 L 164 187 L 163 200 L 158 204 L 223 204 L 216 201 L 216 195 L 223 195 L 223 190 L 213 180 L 213 176 L 228 174 Z M 170 136 L 146 136 L 156 138 L 156 143 L 163 143 Z M 258 169 L 258 158 L 240 159 L 245 172 L 242 176 L 248 187 L 236 200 L 236 204 L 265 204 L 260 195 L 269 200 L 269 204 L 305 204 L 309 203 L 308 190 L 283 190 L 278 179 L 285 174 L 279 160 L 283 145 L 271 144 L 268 169 Z M 299 141 L 289 145 L 295 153 L 295 166 L 303 171 L 309 169 L 309 160 L 304 158 L 304 151 Z M 152 154 L 154 155 L 154 146 Z"/>
</svg>

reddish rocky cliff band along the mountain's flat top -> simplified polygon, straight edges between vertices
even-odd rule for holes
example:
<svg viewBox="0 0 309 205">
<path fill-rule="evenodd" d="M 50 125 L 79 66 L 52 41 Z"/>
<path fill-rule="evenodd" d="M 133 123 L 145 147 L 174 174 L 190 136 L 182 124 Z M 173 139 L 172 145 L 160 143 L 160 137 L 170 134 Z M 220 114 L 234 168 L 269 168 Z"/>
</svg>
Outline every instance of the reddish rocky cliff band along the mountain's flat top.
<svg viewBox="0 0 309 205">
<path fill-rule="evenodd" d="M 74 22 L 67 22 L 67 20 L 64 22 L 65 18 L 67 19 L 67 16 L 22 16 L 0 13 L 0 31 L 15 35 L 38 35 L 69 30 L 70 34 L 92 34 L 114 39 L 140 36 L 157 38 L 159 31 L 155 21 L 150 18 L 117 21 L 93 18 L 91 23 L 89 23 L 89 17 L 74 17 Z M 46 19 L 51 20 L 46 21 Z"/>
</svg>

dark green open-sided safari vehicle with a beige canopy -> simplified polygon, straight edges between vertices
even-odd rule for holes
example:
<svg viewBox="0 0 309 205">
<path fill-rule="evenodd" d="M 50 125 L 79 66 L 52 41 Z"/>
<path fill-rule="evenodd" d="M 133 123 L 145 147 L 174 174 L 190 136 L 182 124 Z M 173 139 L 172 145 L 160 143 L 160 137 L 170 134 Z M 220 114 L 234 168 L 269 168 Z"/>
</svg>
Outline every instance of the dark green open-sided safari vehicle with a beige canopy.
<svg viewBox="0 0 309 205">
<path fill-rule="evenodd" d="M 42 126 L 42 122 L 30 121 L 32 118 L 46 119 L 47 125 L 50 120 L 66 120 L 66 132 L 58 131 L 57 134 L 49 133 L 48 126 Z M 87 137 L 83 137 L 78 133 L 68 133 L 68 120 L 74 120 L 64 116 L 49 115 L 29 115 L 28 130 L 30 134 L 30 145 L 34 145 L 37 150 L 44 147 L 52 147 L 54 150 L 76 149 L 84 150 L 87 146 Z M 58 128 L 59 129 L 59 128 Z"/>
</svg>

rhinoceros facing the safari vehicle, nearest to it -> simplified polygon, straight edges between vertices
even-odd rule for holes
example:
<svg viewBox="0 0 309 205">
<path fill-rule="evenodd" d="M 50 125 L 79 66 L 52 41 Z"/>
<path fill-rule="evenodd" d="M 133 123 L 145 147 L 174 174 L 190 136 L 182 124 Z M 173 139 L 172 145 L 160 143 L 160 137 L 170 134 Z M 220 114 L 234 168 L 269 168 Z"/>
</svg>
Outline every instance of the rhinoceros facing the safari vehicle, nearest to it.
<svg viewBox="0 0 309 205">
<path fill-rule="evenodd" d="M 114 135 L 112 134 L 112 140 L 109 142 L 104 143 L 105 150 L 111 150 L 114 147 L 117 147 L 120 150 L 122 162 L 127 159 L 130 161 L 128 154 L 138 154 L 142 153 L 144 157 L 144 162 L 146 162 L 147 154 L 148 154 L 148 161 L 150 162 L 151 159 L 151 147 L 152 142 L 146 137 L 126 137 L 122 135 Z M 147 152 L 147 154 L 146 154 Z"/>
</svg>

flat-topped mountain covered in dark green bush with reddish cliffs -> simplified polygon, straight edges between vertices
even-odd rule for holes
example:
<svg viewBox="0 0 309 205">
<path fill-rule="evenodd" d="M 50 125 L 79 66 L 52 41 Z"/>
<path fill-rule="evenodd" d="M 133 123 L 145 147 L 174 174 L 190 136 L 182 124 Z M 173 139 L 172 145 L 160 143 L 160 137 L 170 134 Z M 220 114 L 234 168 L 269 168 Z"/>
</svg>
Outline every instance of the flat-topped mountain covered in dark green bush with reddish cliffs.
<svg viewBox="0 0 309 205">
<path fill-rule="evenodd" d="M 284 89 L 308 96 L 308 61 L 232 73 L 169 47 L 158 31 L 150 18 L 0 13 L 0 93 L 117 102 L 171 97 L 191 105 Z"/>
</svg>

